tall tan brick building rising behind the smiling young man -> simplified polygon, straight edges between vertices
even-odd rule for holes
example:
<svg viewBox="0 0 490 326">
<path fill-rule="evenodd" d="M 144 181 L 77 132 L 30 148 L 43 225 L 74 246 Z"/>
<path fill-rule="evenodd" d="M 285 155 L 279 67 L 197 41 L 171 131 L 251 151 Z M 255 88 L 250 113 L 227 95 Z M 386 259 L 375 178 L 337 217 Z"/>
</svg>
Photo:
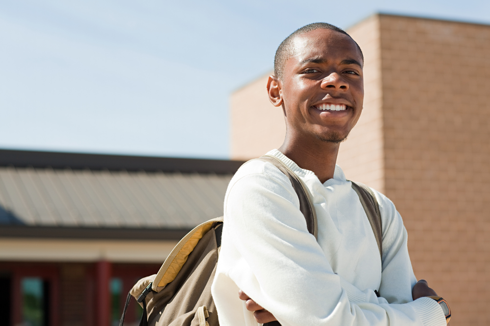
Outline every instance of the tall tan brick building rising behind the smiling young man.
<svg viewBox="0 0 490 326">
<path fill-rule="evenodd" d="M 338 163 L 395 203 L 416 276 L 448 300 L 451 325 L 489 325 L 490 26 L 377 14 L 347 31 L 365 101 Z M 231 96 L 233 159 L 282 144 L 267 76 Z"/>
</svg>

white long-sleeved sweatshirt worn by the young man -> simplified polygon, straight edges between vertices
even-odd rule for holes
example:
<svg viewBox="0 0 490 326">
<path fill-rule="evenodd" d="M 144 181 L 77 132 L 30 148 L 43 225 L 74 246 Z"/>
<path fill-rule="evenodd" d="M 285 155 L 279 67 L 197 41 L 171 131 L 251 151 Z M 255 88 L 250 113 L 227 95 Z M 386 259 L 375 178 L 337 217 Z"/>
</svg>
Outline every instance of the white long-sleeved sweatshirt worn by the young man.
<svg viewBox="0 0 490 326">
<path fill-rule="evenodd" d="M 412 301 L 416 283 L 407 232 L 393 203 L 375 191 L 383 227 L 383 263 L 368 218 L 336 166 L 321 184 L 278 150 L 308 187 L 318 217 L 318 241 L 306 228 L 289 179 L 271 163 L 244 164 L 224 201 L 221 252 L 212 294 L 221 326 L 258 325 L 242 289 L 282 326 L 444 326 L 430 298 Z M 374 290 L 379 289 L 380 298 Z"/>
</svg>

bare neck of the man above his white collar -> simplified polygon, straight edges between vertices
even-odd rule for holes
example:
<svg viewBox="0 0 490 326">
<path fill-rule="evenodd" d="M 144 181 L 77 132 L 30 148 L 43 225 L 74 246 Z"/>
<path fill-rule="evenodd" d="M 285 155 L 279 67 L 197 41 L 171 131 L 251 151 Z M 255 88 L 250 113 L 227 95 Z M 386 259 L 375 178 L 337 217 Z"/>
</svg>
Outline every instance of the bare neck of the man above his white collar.
<svg viewBox="0 0 490 326">
<path fill-rule="evenodd" d="M 334 177 L 340 143 L 313 142 L 308 145 L 284 141 L 279 151 L 299 167 L 315 173 L 321 183 Z"/>
</svg>

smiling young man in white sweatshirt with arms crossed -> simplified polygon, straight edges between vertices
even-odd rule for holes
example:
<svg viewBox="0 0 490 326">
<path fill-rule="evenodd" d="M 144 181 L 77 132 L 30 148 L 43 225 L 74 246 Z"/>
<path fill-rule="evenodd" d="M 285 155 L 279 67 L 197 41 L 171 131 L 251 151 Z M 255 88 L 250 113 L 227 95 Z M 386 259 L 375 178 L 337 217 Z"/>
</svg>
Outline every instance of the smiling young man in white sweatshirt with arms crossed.
<svg viewBox="0 0 490 326">
<path fill-rule="evenodd" d="M 308 187 L 318 241 L 289 179 L 271 163 L 244 164 L 226 193 L 212 286 L 221 326 L 275 319 L 283 326 L 446 325 L 440 303 L 427 297 L 435 292 L 417 283 L 392 202 L 375 191 L 381 261 L 359 197 L 335 164 L 363 108 L 363 64 L 354 40 L 325 23 L 302 27 L 279 46 L 267 90 L 287 131 L 269 154 Z"/>
</svg>

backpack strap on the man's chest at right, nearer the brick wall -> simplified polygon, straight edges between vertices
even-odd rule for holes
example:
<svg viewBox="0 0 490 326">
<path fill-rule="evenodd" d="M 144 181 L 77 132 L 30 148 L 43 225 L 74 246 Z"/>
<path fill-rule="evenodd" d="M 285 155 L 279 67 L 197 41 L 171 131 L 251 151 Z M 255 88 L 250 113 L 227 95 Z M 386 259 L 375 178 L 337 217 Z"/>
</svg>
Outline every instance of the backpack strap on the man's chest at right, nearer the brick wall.
<svg viewBox="0 0 490 326">
<path fill-rule="evenodd" d="M 381 213 L 379 211 L 378 201 L 374 192 L 368 186 L 361 184 L 360 182 L 353 182 L 352 188 L 357 192 L 359 200 L 363 205 L 366 215 L 368 215 L 369 224 L 371 224 L 372 232 L 378 243 L 379 254 L 381 261 L 383 261 L 383 229 L 381 225 Z"/>
</svg>

